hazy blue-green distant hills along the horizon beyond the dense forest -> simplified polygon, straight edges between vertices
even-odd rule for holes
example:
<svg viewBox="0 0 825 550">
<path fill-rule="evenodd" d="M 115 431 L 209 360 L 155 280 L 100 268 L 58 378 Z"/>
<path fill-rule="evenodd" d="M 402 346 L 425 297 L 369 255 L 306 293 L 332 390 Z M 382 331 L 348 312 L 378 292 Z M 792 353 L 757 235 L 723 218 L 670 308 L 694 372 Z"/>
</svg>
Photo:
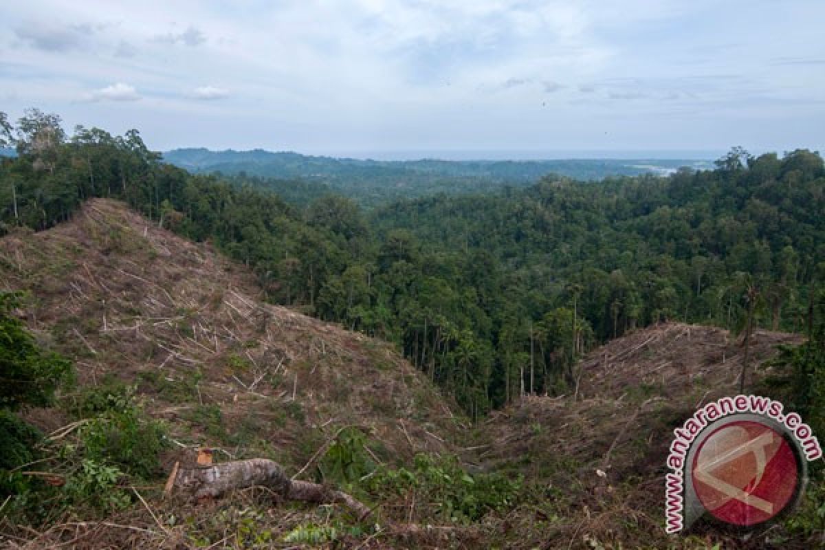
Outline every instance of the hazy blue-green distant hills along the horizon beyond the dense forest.
<svg viewBox="0 0 825 550">
<path fill-rule="evenodd" d="M 599 181 L 607 176 L 657 176 L 679 167 L 710 167 L 708 161 L 568 159 L 547 161 L 375 161 L 353 158 L 314 157 L 292 152 L 210 151 L 181 148 L 163 153 L 163 159 L 190 172 L 220 172 L 229 176 L 302 180 L 323 184 L 302 191 L 302 196 L 336 192 L 361 204 L 374 205 L 446 193 L 460 195 L 499 190 L 502 186 L 528 186 L 542 176 L 556 174 L 583 181 Z M 258 182 L 260 183 L 260 182 Z M 279 192 L 290 186 L 265 185 Z M 281 193 L 279 193 L 281 194 Z M 295 195 L 286 192 L 286 195 Z M 286 198 L 286 200 L 290 200 Z M 295 200 L 290 200 L 295 202 Z"/>
</svg>

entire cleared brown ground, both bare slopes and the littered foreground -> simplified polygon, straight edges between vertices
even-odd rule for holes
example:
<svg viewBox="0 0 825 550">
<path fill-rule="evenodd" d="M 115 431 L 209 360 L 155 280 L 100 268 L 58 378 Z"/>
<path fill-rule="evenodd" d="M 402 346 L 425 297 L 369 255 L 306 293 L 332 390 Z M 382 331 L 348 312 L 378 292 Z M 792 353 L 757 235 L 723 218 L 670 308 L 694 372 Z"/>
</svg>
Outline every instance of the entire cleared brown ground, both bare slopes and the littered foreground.
<svg viewBox="0 0 825 550">
<path fill-rule="evenodd" d="M 120 472 L 103 486 L 121 505 L 99 494 L 102 504 L 55 504 L 76 491 L 78 473 L 64 466 L 71 456 L 46 457 L 28 473 L 50 476 L 58 492 L 44 507 L 62 511 L 41 530 L 4 520 L 7 548 L 666 548 L 672 429 L 736 393 L 743 360 L 741 337 L 728 331 L 654 325 L 585 355 L 568 393 L 521 397 L 471 428 L 389 345 L 262 302 L 245 266 L 114 200 L 3 237 L 0 278 L 3 289 L 30 293 L 16 314 L 76 366 L 60 407 L 24 415 L 50 435 L 49 449 L 87 452 L 93 414 L 125 395 L 151 419 L 143 422 L 163 421 L 168 440 L 157 470 Z M 761 391 L 768 369 L 757 365 L 775 346 L 801 340 L 755 331 L 747 388 Z M 77 443 L 60 447 L 63 438 Z M 266 489 L 163 501 L 172 463 L 193 463 L 200 447 L 217 462 L 271 458 L 343 487 L 374 524 L 340 508 L 284 505 Z M 807 544 L 783 529 L 755 546 L 700 530 L 673 548 Z"/>
</svg>

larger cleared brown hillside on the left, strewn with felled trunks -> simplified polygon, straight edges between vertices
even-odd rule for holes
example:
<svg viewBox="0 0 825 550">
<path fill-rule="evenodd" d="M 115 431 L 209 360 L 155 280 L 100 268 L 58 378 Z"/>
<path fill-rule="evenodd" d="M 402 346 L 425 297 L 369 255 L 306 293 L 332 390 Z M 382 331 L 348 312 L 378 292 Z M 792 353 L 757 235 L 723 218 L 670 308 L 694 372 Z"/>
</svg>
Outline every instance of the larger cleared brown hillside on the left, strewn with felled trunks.
<svg viewBox="0 0 825 550">
<path fill-rule="evenodd" d="M 134 386 L 187 447 L 264 452 L 300 466 L 342 426 L 384 461 L 444 449 L 459 421 L 391 348 L 260 299 L 254 277 L 114 200 L 0 241 L 0 284 L 26 322 L 73 357 L 78 386 Z M 35 412 L 53 430 L 65 419 Z"/>
</svg>

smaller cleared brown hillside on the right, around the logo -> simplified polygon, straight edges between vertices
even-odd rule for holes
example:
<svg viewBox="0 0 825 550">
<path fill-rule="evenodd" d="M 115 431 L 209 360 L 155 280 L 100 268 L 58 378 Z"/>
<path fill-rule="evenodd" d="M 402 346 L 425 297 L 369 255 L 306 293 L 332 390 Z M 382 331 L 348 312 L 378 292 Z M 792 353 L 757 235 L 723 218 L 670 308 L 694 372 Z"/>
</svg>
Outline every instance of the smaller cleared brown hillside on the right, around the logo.
<svg viewBox="0 0 825 550">
<path fill-rule="evenodd" d="M 766 361 L 776 346 L 799 341 L 756 331 L 746 391 L 772 394 Z M 701 405 L 736 395 L 743 360 L 741 337 L 663 323 L 592 350 L 569 393 L 529 396 L 493 412 L 479 426 L 478 455 L 468 459 L 478 468 L 520 472 L 546 491 L 544 505 L 508 515 L 511 529 L 525 534 L 509 548 L 683 548 L 672 547 L 662 527 L 673 429 Z M 780 526 L 775 531 L 758 541 L 714 540 L 724 540 L 724 548 L 807 548 Z M 705 548 L 701 538 L 680 543 Z"/>
</svg>

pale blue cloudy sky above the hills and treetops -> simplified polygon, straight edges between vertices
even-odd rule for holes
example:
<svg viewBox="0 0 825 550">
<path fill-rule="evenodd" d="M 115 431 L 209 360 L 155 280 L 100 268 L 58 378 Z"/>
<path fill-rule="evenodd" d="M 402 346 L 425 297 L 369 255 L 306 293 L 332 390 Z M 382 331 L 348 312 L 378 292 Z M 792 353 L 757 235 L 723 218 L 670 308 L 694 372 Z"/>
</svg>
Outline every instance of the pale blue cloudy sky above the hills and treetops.
<svg viewBox="0 0 825 550">
<path fill-rule="evenodd" d="M 822 0 L 2 2 L 0 111 L 155 150 L 825 150 L 822 21 Z"/>
</svg>

